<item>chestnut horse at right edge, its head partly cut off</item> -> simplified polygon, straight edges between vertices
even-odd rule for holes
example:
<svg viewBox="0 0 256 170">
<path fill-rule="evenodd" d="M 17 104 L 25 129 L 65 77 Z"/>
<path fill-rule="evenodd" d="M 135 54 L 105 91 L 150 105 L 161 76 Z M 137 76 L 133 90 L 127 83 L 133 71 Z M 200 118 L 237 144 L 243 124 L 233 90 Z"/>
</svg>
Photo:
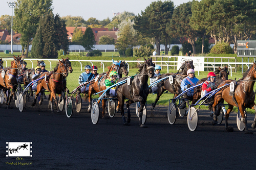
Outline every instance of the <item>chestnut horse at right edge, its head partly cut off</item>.
<svg viewBox="0 0 256 170">
<path fill-rule="evenodd" d="M 225 114 L 225 130 L 226 131 L 233 131 L 232 127 L 228 127 L 228 117 L 229 113 L 232 111 L 234 106 L 239 108 L 241 113 L 241 120 L 245 125 L 245 133 L 252 134 L 247 128 L 247 118 L 245 116 L 244 110 L 246 108 L 251 108 L 256 111 L 256 105 L 254 103 L 255 100 L 255 93 L 253 91 L 253 86 L 256 80 L 256 63 L 253 64 L 248 68 L 248 70 L 243 74 L 243 78 L 239 81 L 236 81 L 236 85 L 234 86 L 234 93 L 232 96 L 230 95 L 229 87 L 223 87 L 220 91 L 215 94 L 214 104 L 212 105 L 212 109 L 214 110 L 214 119 L 212 120 L 212 125 L 217 124 L 217 115 L 216 115 L 216 106 L 221 103 L 223 100 L 228 103 L 228 109 Z M 219 86 L 224 86 L 227 83 L 231 83 L 233 80 L 226 80 L 222 82 Z M 256 115 L 254 118 L 254 122 L 251 127 L 254 129 L 256 125 Z"/>
</svg>

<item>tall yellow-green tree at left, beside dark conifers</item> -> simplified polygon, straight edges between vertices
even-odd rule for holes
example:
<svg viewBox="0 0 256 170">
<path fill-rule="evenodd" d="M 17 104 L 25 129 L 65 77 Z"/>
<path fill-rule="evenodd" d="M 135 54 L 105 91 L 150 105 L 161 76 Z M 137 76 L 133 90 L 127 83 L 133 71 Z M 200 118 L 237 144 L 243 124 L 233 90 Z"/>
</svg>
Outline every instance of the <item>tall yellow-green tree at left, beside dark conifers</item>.
<svg viewBox="0 0 256 170">
<path fill-rule="evenodd" d="M 26 57 L 28 57 L 28 47 L 32 38 L 35 37 L 39 19 L 41 16 L 52 12 L 52 0 L 17 0 L 14 8 L 13 29 L 22 34 L 20 44 L 22 44 L 22 55 L 26 48 Z"/>
</svg>

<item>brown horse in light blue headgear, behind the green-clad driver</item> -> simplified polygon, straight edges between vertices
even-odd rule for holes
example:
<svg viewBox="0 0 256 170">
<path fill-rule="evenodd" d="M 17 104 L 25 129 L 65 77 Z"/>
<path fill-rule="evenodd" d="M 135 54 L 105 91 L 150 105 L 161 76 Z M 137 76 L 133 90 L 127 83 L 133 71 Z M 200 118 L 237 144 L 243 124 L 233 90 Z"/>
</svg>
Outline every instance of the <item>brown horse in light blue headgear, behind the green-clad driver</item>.
<svg viewBox="0 0 256 170">
<path fill-rule="evenodd" d="M 111 66 L 109 66 L 108 68 L 109 68 L 109 71 L 106 72 L 105 75 L 100 74 L 98 80 L 91 83 L 90 86 L 89 86 L 88 95 L 86 97 L 86 100 L 88 99 L 88 101 L 89 101 L 89 107 L 88 107 L 88 110 L 87 110 L 88 112 L 90 112 L 91 108 L 92 108 L 92 105 L 91 105 L 92 94 L 95 93 L 95 92 L 100 92 L 100 91 L 103 91 L 103 90 L 106 89 L 105 79 L 107 77 L 109 77 L 109 74 L 112 70 L 115 70 L 115 71 L 118 72 L 118 78 L 121 78 L 122 74 L 124 76 L 128 76 L 128 74 L 129 74 L 129 71 L 127 70 L 127 64 L 125 63 L 125 61 L 120 61 L 119 63 L 114 63 Z M 100 93 L 99 95 L 101 95 L 102 93 Z M 105 114 L 105 100 L 102 100 L 102 108 L 103 108 L 102 117 L 104 117 L 104 114 Z M 118 108 L 119 108 L 119 103 L 117 105 L 117 110 L 118 110 Z"/>
</svg>

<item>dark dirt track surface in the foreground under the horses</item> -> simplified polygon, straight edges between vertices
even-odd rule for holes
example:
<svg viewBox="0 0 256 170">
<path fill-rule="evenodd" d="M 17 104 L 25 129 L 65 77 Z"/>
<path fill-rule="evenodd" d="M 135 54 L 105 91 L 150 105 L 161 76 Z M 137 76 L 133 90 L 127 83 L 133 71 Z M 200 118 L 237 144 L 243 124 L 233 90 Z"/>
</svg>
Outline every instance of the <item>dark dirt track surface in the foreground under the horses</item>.
<svg viewBox="0 0 256 170">
<path fill-rule="evenodd" d="M 197 131 L 190 132 L 186 117 L 168 123 L 166 106 L 153 111 L 147 106 L 148 128 L 140 128 L 134 104 L 130 126 L 122 125 L 120 113 L 93 125 L 85 103 L 71 118 L 65 110 L 51 114 L 47 104 L 31 107 L 29 102 L 24 112 L 14 102 L 9 110 L 0 105 L 0 169 L 255 169 L 254 115 L 247 115 L 253 135 L 238 130 L 234 113 L 229 118 L 233 132 L 225 132 L 224 121 L 212 126 L 208 111 L 199 112 Z M 6 157 L 6 142 L 15 141 L 33 142 L 33 156 Z"/>
</svg>

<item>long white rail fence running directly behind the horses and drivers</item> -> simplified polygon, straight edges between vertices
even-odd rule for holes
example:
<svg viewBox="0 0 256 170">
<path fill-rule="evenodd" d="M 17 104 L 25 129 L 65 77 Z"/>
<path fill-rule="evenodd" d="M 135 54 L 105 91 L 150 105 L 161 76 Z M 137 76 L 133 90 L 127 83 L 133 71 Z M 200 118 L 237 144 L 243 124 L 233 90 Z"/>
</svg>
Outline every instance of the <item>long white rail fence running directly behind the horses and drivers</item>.
<svg viewBox="0 0 256 170">
<path fill-rule="evenodd" d="M 6 67 L 7 67 L 8 66 L 8 61 L 9 61 L 9 63 L 11 63 L 11 61 L 13 59 L 12 58 L 3 58 L 3 60 L 5 61 L 5 64 L 6 64 Z M 32 68 L 34 68 L 32 61 L 37 61 L 37 60 L 42 60 L 42 59 L 24 59 L 24 61 L 26 61 L 26 62 L 30 61 L 32 63 Z M 58 59 L 43 59 L 43 60 L 50 62 L 50 69 L 52 69 L 52 61 L 56 61 L 56 62 L 58 61 Z M 101 63 L 102 66 L 103 66 L 103 71 L 105 70 L 104 69 L 105 68 L 104 62 L 112 62 L 112 60 L 103 60 L 103 61 L 100 61 L 100 60 L 69 60 L 69 61 L 79 62 L 80 63 L 81 71 L 83 71 L 83 66 L 82 66 L 81 62 L 90 62 L 92 65 L 94 65 L 94 63 Z M 132 63 L 132 62 L 143 63 L 144 61 L 125 61 L 125 62 L 128 64 L 128 70 L 129 70 L 129 63 Z M 164 63 L 166 65 L 166 67 L 167 67 L 167 73 L 169 73 L 169 67 L 171 65 L 175 66 L 176 70 L 179 69 L 179 68 L 177 68 L 178 61 L 153 61 L 153 62 L 154 63 Z M 215 68 L 218 68 L 218 66 L 215 66 L 215 64 L 228 65 L 228 68 L 230 69 L 230 76 L 232 77 L 232 68 L 233 67 L 231 67 L 230 64 L 246 65 L 249 68 L 252 63 L 250 63 L 250 62 L 215 62 L 215 63 L 204 62 L 204 63 L 201 63 L 201 64 L 204 64 L 205 67 L 206 67 L 207 64 L 208 65 L 212 65 L 212 68 L 214 68 L 214 71 L 215 71 Z M 198 65 L 200 65 L 200 64 L 198 64 Z M 199 70 L 199 68 L 198 68 L 198 70 Z M 198 75 L 199 75 L 199 71 L 198 71 Z"/>
</svg>

